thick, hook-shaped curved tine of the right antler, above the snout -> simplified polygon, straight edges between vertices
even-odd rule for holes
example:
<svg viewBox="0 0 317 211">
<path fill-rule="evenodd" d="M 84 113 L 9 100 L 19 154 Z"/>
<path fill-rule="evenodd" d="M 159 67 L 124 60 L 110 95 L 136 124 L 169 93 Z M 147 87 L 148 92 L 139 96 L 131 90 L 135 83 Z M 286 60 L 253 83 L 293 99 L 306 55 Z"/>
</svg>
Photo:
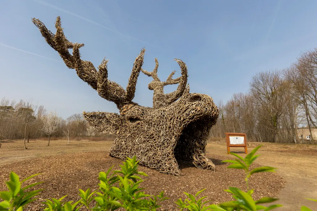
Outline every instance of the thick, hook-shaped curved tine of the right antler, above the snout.
<svg viewBox="0 0 317 211">
<path fill-rule="evenodd" d="M 182 76 L 180 76 L 180 79 L 178 78 L 175 79 L 175 80 L 179 80 L 178 87 L 176 91 L 167 94 L 167 104 L 171 104 L 172 102 L 175 102 L 178 98 L 180 98 L 180 96 L 182 96 L 182 94 L 184 93 L 184 90 L 186 89 L 186 85 L 187 85 L 188 75 L 187 75 L 187 66 L 185 62 L 179 59 L 174 59 L 174 60 L 177 61 L 181 69 Z"/>
</svg>

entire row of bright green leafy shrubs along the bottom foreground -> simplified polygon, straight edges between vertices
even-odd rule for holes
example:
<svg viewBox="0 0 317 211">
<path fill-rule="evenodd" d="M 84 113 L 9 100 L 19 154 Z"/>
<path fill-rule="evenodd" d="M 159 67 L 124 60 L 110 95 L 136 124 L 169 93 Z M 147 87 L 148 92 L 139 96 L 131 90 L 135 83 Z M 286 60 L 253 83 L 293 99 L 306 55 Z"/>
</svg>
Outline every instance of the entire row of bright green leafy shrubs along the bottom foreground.
<svg viewBox="0 0 317 211">
<path fill-rule="evenodd" d="M 235 187 L 229 187 L 227 191 L 232 194 L 234 201 L 226 201 L 216 204 L 210 204 L 210 201 L 206 200 L 206 196 L 198 197 L 204 190 L 197 192 L 195 195 L 191 195 L 187 192 L 184 194 L 187 198 L 183 201 L 178 199 L 175 203 L 178 205 L 180 211 L 256 211 L 256 210 L 272 210 L 276 207 L 281 207 L 279 204 L 274 204 L 269 207 L 262 206 L 261 204 L 276 201 L 275 198 L 263 197 L 260 200 L 254 200 L 252 198 L 253 189 L 249 190 L 248 179 L 252 174 L 271 171 L 274 172 L 275 168 L 262 166 L 255 169 L 249 169 L 250 165 L 256 160 L 259 155 L 255 155 L 256 151 L 261 146 L 256 147 L 251 151 L 249 155 L 242 158 L 235 153 L 231 153 L 235 157 L 235 160 L 225 160 L 223 162 L 232 163 L 228 168 L 244 169 L 246 176 L 247 192 Z M 123 165 L 120 165 L 121 170 L 112 170 L 113 167 L 107 170 L 107 172 L 100 172 L 98 179 L 99 189 L 91 192 L 87 190 L 79 189 L 79 201 L 65 201 L 63 199 L 67 196 L 62 196 L 60 199 L 52 198 L 46 199 L 42 202 L 45 206 L 44 211 L 78 211 L 82 207 L 86 207 L 89 210 L 108 211 L 117 210 L 123 208 L 128 211 L 139 210 L 151 210 L 155 211 L 160 208 L 160 203 L 168 198 L 164 196 L 162 191 L 159 195 L 148 195 L 142 188 L 139 188 L 143 179 L 140 176 L 147 176 L 146 173 L 138 171 L 138 161 L 133 157 L 127 158 Z M 0 192 L 0 198 L 3 200 L 0 202 L 0 211 L 23 211 L 29 203 L 37 200 L 35 198 L 43 189 L 28 191 L 29 188 L 34 187 L 42 182 L 36 182 L 21 188 L 23 182 L 30 178 L 37 176 L 32 175 L 28 178 L 20 181 L 20 178 L 16 173 L 10 173 L 10 181 L 6 182 L 8 191 Z M 317 201 L 314 199 L 309 199 Z M 94 201 L 94 206 L 92 202 Z M 302 211 L 310 211 L 309 208 L 302 206 Z"/>
</svg>

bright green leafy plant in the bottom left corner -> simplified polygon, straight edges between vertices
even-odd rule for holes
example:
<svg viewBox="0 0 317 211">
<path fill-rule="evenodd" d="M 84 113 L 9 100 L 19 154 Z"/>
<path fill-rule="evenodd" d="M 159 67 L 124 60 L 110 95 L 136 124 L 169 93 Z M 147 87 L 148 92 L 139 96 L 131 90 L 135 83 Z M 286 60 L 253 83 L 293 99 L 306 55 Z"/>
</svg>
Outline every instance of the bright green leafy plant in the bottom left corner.
<svg viewBox="0 0 317 211">
<path fill-rule="evenodd" d="M 11 172 L 9 176 L 10 180 L 5 182 L 9 191 L 0 192 L 0 197 L 1 199 L 3 199 L 3 201 L 0 202 L 0 211 L 22 211 L 25 205 L 31 203 L 32 201 L 35 201 L 36 198 L 33 197 L 39 195 L 43 189 L 33 191 L 28 191 L 28 189 L 38 184 L 41 184 L 42 182 L 36 182 L 27 185 L 24 188 L 21 188 L 21 185 L 23 184 L 23 182 L 37 175 L 39 174 L 29 176 L 24 180 L 20 181 L 19 176 L 16 173 Z"/>
</svg>

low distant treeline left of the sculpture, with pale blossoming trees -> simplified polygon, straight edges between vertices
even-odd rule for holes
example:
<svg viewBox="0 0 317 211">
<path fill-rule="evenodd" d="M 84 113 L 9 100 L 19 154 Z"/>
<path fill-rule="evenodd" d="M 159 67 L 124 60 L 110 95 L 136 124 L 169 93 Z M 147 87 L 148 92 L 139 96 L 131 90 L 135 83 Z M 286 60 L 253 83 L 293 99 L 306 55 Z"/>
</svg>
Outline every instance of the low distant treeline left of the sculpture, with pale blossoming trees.
<svg viewBox="0 0 317 211">
<path fill-rule="evenodd" d="M 87 124 L 82 114 L 73 114 L 63 119 L 56 112 L 47 112 L 43 105 L 31 100 L 19 102 L 3 98 L 0 102 L 0 147 L 4 139 L 42 139 L 54 137 L 80 140 L 113 140 L 114 136 L 100 133 Z M 95 138 L 93 138 L 95 137 Z"/>
</svg>

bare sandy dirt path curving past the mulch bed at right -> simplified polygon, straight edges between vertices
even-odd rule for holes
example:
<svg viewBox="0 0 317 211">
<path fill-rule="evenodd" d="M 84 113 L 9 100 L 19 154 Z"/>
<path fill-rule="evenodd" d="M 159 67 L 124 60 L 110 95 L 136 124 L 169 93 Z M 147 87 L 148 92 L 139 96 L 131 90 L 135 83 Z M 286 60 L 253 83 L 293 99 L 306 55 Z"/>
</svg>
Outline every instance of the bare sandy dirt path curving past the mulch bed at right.
<svg viewBox="0 0 317 211">
<path fill-rule="evenodd" d="M 279 194 L 278 203 L 282 204 L 283 207 L 275 210 L 295 211 L 300 210 L 303 205 L 312 210 L 317 210 L 317 202 L 304 199 L 317 199 L 317 156 L 301 149 L 296 150 L 296 147 L 285 150 L 279 147 L 270 148 L 260 148 L 258 152 L 261 156 L 256 160 L 256 163 L 278 168 L 277 172 L 287 182 Z M 249 147 L 248 151 L 252 149 Z M 233 157 L 232 155 L 226 155 L 227 148 L 225 145 L 208 144 L 206 150 L 213 154 Z M 235 148 L 231 151 L 244 153 L 243 148 Z M 245 156 L 245 154 L 239 155 Z"/>
</svg>

